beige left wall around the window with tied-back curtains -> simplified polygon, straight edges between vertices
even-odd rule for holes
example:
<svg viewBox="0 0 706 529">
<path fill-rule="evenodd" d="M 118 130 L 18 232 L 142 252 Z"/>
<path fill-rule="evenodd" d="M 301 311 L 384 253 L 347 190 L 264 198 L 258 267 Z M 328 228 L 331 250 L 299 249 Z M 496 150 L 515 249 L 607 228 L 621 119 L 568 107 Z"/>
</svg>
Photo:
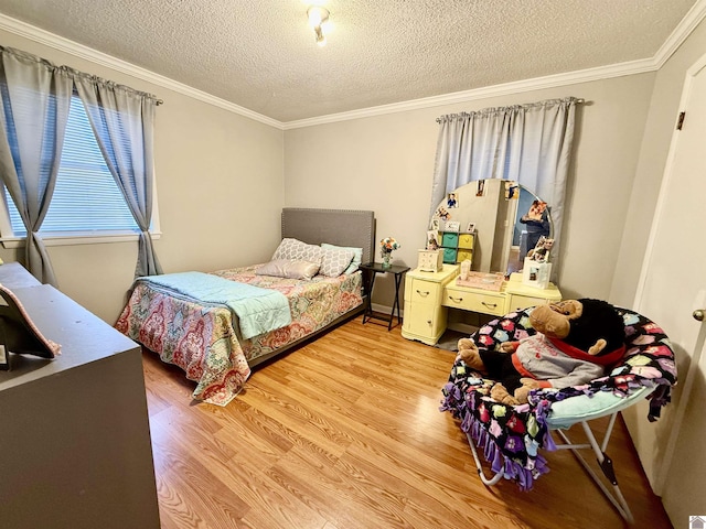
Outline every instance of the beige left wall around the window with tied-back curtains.
<svg viewBox="0 0 706 529">
<path fill-rule="evenodd" d="M 267 260 L 284 205 L 281 130 L 0 31 L 0 44 L 156 94 L 154 165 L 167 272 Z M 132 282 L 137 241 L 49 248 L 60 289 L 113 324 Z M 3 260 L 23 250 L 0 248 Z"/>
</svg>

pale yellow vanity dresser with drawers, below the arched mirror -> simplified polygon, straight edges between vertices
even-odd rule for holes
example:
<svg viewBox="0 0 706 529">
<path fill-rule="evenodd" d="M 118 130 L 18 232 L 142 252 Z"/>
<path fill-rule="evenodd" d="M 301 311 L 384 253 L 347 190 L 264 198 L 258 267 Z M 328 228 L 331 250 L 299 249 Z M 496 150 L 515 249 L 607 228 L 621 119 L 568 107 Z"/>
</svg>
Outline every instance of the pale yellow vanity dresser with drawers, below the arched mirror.
<svg viewBox="0 0 706 529">
<path fill-rule="evenodd" d="M 435 345 L 447 326 L 448 307 L 502 316 L 514 310 L 561 300 L 556 285 L 535 289 L 522 283 L 513 273 L 499 291 L 461 287 L 456 283 L 460 267 L 443 264 L 438 272 L 419 269 L 407 272 L 405 281 L 405 320 L 402 335 Z"/>
</svg>

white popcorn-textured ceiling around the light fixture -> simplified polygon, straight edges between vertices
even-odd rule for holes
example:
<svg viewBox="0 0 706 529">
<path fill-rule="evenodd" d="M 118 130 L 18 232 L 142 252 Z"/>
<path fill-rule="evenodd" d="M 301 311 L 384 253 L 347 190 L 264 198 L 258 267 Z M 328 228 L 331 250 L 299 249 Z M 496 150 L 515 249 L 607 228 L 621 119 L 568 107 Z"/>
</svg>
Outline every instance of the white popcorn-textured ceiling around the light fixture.
<svg viewBox="0 0 706 529">
<path fill-rule="evenodd" d="M 331 11 L 325 47 L 308 3 Z M 695 3 L 0 0 L 0 13 L 287 122 L 652 58 Z"/>
</svg>

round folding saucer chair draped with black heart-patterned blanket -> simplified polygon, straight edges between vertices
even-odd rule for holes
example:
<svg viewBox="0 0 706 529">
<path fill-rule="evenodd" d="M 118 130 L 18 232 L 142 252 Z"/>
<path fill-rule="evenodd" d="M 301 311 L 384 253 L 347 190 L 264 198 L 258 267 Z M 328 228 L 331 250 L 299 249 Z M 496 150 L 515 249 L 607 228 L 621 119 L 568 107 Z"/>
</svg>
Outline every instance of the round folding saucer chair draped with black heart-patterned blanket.
<svg viewBox="0 0 706 529">
<path fill-rule="evenodd" d="M 518 341 L 536 333 L 530 324 L 533 307 L 493 320 L 471 337 L 480 348 L 499 348 L 502 342 Z M 625 324 L 625 355 L 605 377 L 565 389 L 537 389 L 530 401 L 520 406 L 501 404 L 490 397 L 495 384 L 470 369 L 458 356 L 448 384 L 443 387 L 442 411 L 460 421 L 478 467 L 488 486 L 503 477 L 528 490 L 536 478 L 548 472 L 542 451 L 570 450 L 620 515 L 629 522 L 632 512 L 620 490 L 613 464 L 606 454 L 618 413 L 639 400 L 650 400 L 648 419 L 655 421 L 670 401 L 670 388 L 676 384 L 674 352 L 659 325 L 646 317 L 618 309 Z M 589 422 L 609 417 L 599 443 Z M 580 424 L 588 438 L 586 444 L 571 443 L 565 430 Z M 555 443 L 552 432 L 561 439 Z M 486 477 L 478 451 L 481 449 L 494 473 Z M 612 493 L 586 462 L 579 451 L 590 450 L 597 457 Z"/>
</svg>

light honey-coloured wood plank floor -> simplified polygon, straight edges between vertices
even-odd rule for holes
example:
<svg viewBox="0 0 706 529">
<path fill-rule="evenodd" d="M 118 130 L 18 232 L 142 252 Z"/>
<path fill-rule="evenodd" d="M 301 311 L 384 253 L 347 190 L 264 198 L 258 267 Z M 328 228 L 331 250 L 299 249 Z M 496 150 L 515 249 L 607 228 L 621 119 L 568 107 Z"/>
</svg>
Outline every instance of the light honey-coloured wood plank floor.
<svg viewBox="0 0 706 529">
<path fill-rule="evenodd" d="M 548 454 L 528 493 L 484 487 L 439 411 L 453 356 L 357 317 L 256 370 L 221 408 L 145 354 L 162 528 L 628 527 L 568 452 Z M 633 527 L 672 527 L 621 421 L 607 452 Z"/>
</svg>

